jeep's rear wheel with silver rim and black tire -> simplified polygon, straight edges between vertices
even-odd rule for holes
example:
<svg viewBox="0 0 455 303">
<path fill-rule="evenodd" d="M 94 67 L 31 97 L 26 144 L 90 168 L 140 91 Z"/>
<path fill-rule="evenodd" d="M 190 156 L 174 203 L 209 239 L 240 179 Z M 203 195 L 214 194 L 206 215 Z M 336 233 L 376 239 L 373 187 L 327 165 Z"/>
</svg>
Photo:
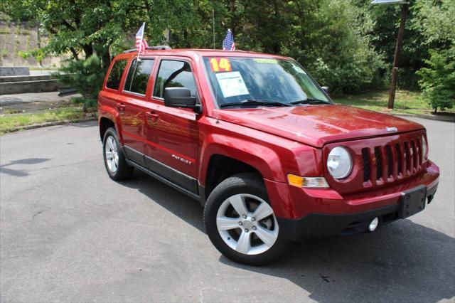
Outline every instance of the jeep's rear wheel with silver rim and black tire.
<svg viewBox="0 0 455 303">
<path fill-rule="evenodd" d="M 122 181 L 132 176 L 134 167 L 127 164 L 117 138 L 117 132 L 113 127 L 109 127 L 105 132 L 105 137 L 102 140 L 102 154 L 110 179 Z"/>
</svg>

